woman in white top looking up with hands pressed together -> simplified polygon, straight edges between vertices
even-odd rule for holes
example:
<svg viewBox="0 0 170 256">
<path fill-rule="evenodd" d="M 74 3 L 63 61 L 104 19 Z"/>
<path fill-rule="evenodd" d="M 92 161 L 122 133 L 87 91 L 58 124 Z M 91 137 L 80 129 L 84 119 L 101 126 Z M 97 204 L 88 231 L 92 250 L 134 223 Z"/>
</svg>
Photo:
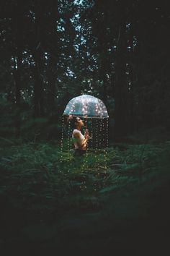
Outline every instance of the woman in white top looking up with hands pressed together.
<svg viewBox="0 0 170 256">
<path fill-rule="evenodd" d="M 73 127 L 73 144 L 75 147 L 75 155 L 84 155 L 86 152 L 87 142 L 90 139 L 88 129 L 85 129 L 84 135 L 81 133 L 81 127 L 84 127 L 84 121 L 77 116 L 68 116 L 68 120 L 71 121 L 71 127 Z"/>
</svg>

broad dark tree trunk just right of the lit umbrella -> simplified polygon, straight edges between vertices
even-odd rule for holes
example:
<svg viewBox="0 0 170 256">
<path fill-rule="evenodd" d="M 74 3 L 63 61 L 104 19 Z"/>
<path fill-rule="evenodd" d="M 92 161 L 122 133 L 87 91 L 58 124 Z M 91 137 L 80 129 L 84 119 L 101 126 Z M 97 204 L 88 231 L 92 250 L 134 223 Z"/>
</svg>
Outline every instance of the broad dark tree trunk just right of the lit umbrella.
<svg viewBox="0 0 170 256">
<path fill-rule="evenodd" d="M 127 135 L 127 77 L 126 77 L 126 15 L 125 3 L 120 1 L 120 30 L 115 62 L 115 138 Z"/>
</svg>

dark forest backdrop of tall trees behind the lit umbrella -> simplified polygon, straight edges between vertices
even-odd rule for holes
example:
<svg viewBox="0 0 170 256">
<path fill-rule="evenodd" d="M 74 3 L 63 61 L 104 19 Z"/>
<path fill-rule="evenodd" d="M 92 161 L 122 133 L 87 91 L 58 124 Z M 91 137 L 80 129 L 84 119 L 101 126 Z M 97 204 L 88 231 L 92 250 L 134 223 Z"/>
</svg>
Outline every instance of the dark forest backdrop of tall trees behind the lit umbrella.
<svg viewBox="0 0 170 256">
<path fill-rule="evenodd" d="M 82 93 L 112 140 L 169 130 L 169 21 L 168 1 L 1 1 L 1 135 L 57 139 Z"/>
</svg>

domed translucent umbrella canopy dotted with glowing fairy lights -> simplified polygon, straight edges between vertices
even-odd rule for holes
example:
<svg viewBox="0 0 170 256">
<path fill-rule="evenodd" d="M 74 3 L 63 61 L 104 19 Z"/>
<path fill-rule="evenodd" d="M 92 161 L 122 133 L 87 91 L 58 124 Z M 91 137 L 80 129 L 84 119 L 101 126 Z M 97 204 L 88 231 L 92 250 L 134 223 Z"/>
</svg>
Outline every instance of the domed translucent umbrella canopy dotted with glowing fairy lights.
<svg viewBox="0 0 170 256">
<path fill-rule="evenodd" d="M 81 116 L 86 118 L 109 118 L 104 103 L 91 95 L 81 95 L 68 102 L 63 115 Z"/>
</svg>

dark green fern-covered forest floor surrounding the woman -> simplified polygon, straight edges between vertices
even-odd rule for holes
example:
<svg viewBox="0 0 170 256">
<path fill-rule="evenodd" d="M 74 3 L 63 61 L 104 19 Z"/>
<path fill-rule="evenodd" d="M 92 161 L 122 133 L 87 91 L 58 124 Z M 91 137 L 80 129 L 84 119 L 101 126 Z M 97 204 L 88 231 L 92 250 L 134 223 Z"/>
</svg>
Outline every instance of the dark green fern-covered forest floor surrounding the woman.
<svg viewBox="0 0 170 256">
<path fill-rule="evenodd" d="M 169 140 L 115 143 L 76 158 L 57 141 L 0 141 L 1 255 L 169 249 Z"/>
</svg>

